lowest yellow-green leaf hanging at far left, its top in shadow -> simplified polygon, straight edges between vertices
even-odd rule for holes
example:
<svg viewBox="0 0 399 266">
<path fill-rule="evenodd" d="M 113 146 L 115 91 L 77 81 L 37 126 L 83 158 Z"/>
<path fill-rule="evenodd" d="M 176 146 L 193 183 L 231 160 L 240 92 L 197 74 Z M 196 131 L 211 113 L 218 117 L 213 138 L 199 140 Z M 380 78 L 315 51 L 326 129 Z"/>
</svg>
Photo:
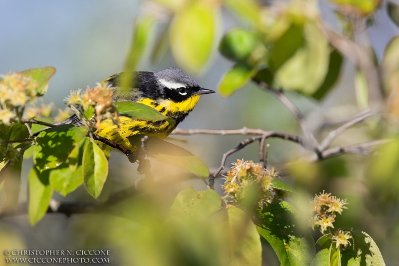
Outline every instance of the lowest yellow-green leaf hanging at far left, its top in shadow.
<svg viewBox="0 0 399 266">
<path fill-rule="evenodd" d="M 43 218 L 50 204 L 52 188 L 49 182 L 49 171 L 39 172 L 32 168 L 29 174 L 29 206 L 28 216 L 31 225 Z"/>
</svg>

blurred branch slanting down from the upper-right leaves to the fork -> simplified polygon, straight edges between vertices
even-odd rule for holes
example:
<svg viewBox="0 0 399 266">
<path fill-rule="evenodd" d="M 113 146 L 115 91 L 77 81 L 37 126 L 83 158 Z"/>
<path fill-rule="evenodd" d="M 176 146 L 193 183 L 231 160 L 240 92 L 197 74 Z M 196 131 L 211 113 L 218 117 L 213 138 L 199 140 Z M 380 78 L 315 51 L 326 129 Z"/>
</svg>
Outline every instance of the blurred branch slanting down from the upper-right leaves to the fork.
<svg viewBox="0 0 399 266">
<path fill-rule="evenodd" d="M 271 93 L 273 93 L 274 96 L 276 96 L 294 114 L 294 116 L 296 117 L 296 119 L 299 122 L 299 125 L 301 126 L 301 129 L 302 129 L 303 133 L 305 134 L 305 136 L 313 144 L 314 150 L 318 151 L 319 142 L 316 140 L 316 138 L 313 135 L 312 131 L 306 125 L 305 119 L 304 119 L 303 115 L 301 114 L 301 112 L 299 111 L 299 109 L 291 102 L 291 100 L 288 99 L 288 97 L 285 96 L 285 94 L 283 92 L 272 89 L 265 82 L 259 82 L 258 85 L 261 88 L 263 88 L 265 90 L 268 90 Z"/>
</svg>

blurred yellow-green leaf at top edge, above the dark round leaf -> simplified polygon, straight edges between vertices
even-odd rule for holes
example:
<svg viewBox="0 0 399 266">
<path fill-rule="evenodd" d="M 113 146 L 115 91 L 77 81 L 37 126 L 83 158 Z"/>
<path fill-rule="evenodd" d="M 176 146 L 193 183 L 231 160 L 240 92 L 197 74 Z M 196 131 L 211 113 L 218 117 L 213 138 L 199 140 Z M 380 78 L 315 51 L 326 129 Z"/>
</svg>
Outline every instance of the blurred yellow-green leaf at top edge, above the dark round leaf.
<svg viewBox="0 0 399 266">
<path fill-rule="evenodd" d="M 253 24 L 259 21 L 259 10 L 257 1 L 254 0 L 224 0 L 224 5 L 231 11 Z"/>
</svg>

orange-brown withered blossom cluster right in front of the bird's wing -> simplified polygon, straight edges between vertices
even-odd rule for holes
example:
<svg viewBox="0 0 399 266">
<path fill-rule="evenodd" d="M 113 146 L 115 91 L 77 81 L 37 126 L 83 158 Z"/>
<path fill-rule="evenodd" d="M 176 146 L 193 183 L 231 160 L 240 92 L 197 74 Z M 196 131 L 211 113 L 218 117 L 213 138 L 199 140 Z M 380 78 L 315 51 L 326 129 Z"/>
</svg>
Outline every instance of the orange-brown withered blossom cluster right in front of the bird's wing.
<svg viewBox="0 0 399 266">
<path fill-rule="evenodd" d="M 86 91 L 82 93 L 82 90 L 71 91 L 71 94 L 67 97 L 67 104 L 77 105 L 87 110 L 93 107 L 96 114 L 95 127 L 97 131 L 101 131 L 100 122 L 103 119 L 111 118 L 114 124 L 119 125 L 118 113 L 115 105 L 112 102 L 112 88 L 97 83 L 93 89 L 88 86 Z M 88 117 L 91 121 L 91 117 Z M 90 123 L 90 121 L 88 121 Z"/>
</svg>

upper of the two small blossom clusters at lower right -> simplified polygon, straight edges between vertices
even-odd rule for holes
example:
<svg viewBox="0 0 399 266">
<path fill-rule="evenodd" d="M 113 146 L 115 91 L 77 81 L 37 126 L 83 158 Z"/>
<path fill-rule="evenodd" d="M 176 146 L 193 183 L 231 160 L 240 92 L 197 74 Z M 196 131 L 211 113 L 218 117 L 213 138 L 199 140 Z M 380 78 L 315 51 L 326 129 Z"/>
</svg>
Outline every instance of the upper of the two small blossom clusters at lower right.
<svg viewBox="0 0 399 266">
<path fill-rule="evenodd" d="M 312 228 L 319 227 L 323 234 L 328 228 L 333 229 L 337 214 L 342 214 L 343 209 L 348 209 L 344 206 L 346 204 L 346 199 L 340 200 L 336 196 L 331 196 L 331 193 L 323 191 L 319 195 L 315 195 L 311 204 Z M 316 214 L 314 215 L 314 213 Z"/>
</svg>

